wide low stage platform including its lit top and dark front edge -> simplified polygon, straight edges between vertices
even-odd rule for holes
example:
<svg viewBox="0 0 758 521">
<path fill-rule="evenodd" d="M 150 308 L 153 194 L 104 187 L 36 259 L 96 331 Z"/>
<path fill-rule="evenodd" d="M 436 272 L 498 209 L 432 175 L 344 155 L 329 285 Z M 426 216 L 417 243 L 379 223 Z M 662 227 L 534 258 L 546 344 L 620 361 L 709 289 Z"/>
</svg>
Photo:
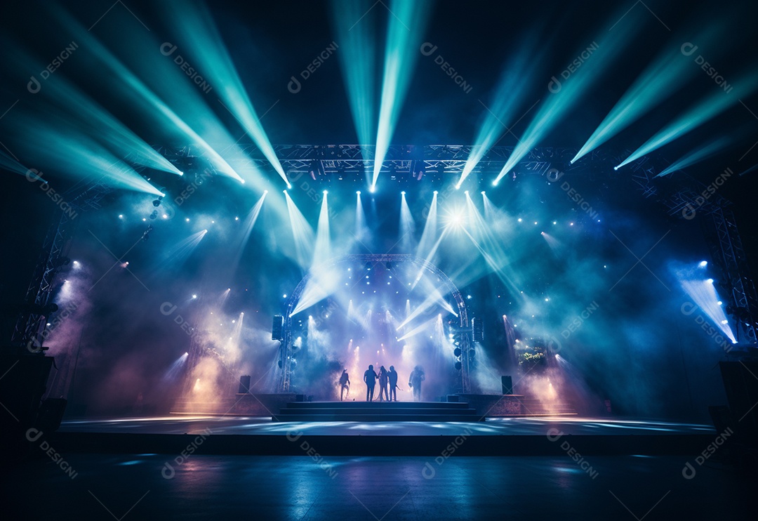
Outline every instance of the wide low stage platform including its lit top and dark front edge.
<svg viewBox="0 0 758 521">
<path fill-rule="evenodd" d="M 333 456 L 557 456 L 698 454 L 713 441 L 710 425 L 654 419 L 576 416 L 499 418 L 483 422 L 271 422 L 265 417 L 163 416 L 64 421 L 50 442 L 66 452 Z M 468 441 L 473 441 L 472 443 Z"/>
</svg>

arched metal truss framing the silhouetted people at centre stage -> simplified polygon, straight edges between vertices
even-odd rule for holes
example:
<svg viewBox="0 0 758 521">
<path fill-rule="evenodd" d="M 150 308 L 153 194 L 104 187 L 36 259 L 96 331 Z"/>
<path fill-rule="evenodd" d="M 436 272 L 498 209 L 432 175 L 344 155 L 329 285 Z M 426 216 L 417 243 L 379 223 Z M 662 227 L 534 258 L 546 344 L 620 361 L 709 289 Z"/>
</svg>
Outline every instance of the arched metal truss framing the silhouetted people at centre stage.
<svg viewBox="0 0 758 521">
<path fill-rule="evenodd" d="M 458 306 L 458 318 L 460 319 L 460 327 L 462 331 L 468 331 L 469 334 L 461 335 L 461 388 L 462 392 L 466 393 L 470 390 L 469 379 L 469 347 L 471 347 L 471 335 L 468 328 L 468 312 L 466 310 L 466 303 L 463 300 L 461 292 L 453 284 L 453 281 L 442 271 L 437 268 L 436 265 L 428 262 L 425 259 L 421 259 L 415 255 L 407 254 L 393 254 L 393 253 L 356 253 L 353 255 L 346 255 L 341 257 L 335 257 L 324 264 L 318 266 L 317 269 L 331 268 L 336 265 L 352 263 L 352 264 L 365 264 L 365 262 L 391 262 L 393 264 L 409 262 L 418 266 L 425 271 L 428 271 L 432 275 L 437 275 L 440 281 L 445 286 L 445 294 L 449 293 L 453 295 L 453 299 Z M 309 271 L 305 277 L 302 278 L 295 290 L 290 294 L 290 298 L 287 300 L 287 306 L 284 311 L 284 326 L 282 330 L 283 340 L 279 347 L 279 366 L 281 371 L 279 389 L 282 392 L 290 392 L 290 373 L 292 372 L 292 312 L 295 309 L 303 290 L 305 290 L 306 284 L 311 280 L 315 269 Z"/>
</svg>

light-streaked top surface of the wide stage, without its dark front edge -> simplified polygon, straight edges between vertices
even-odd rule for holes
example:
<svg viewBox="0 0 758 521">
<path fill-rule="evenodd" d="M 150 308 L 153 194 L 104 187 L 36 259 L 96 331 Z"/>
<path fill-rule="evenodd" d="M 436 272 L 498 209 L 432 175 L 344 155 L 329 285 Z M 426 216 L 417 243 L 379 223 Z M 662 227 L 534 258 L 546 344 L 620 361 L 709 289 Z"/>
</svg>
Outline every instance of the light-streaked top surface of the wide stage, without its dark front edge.
<svg viewBox="0 0 758 521">
<path fill-rule="evenodd" d="M 545 436 L 556 428 L 565 435 L 713 435 L 712 425 L 656 419 L 540 416 L 491 418 L 486 422 L 271 422 L 252 416 L 159 416 L 154 418 L 72 419 L 59 432 L 162 435 L 287 435 L 293 430 L 327 436 Z"/>
</svg>

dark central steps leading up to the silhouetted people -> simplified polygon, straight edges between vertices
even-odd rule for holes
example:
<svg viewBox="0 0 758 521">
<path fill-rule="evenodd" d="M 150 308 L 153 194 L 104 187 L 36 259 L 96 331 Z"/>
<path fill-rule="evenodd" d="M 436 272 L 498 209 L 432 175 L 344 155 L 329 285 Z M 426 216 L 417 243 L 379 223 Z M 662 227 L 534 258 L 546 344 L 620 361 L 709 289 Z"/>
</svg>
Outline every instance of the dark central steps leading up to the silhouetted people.
<svg viewBox="0 0 758 521">
<path fill-rule="evenodd" d="M 480 422 L 468 403 L 290 402 L 274 422 Z"/>
</svg>

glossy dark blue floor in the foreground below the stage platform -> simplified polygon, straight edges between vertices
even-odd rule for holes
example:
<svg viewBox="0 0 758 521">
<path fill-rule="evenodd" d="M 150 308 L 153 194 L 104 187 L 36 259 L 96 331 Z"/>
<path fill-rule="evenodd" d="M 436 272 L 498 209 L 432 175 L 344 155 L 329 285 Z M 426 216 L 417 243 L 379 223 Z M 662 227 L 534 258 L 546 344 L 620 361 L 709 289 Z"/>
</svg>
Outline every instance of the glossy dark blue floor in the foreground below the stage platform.
<svg viewBox="0 0 758 521">
<path fill-rule="evenodd" d="M 72 479 L 38 457 L 6 473 L 3 519 L 755 519 L 750 475 L 686 479 L 685 456 L 177 458 L 64 454 Z"/>
</svg>

